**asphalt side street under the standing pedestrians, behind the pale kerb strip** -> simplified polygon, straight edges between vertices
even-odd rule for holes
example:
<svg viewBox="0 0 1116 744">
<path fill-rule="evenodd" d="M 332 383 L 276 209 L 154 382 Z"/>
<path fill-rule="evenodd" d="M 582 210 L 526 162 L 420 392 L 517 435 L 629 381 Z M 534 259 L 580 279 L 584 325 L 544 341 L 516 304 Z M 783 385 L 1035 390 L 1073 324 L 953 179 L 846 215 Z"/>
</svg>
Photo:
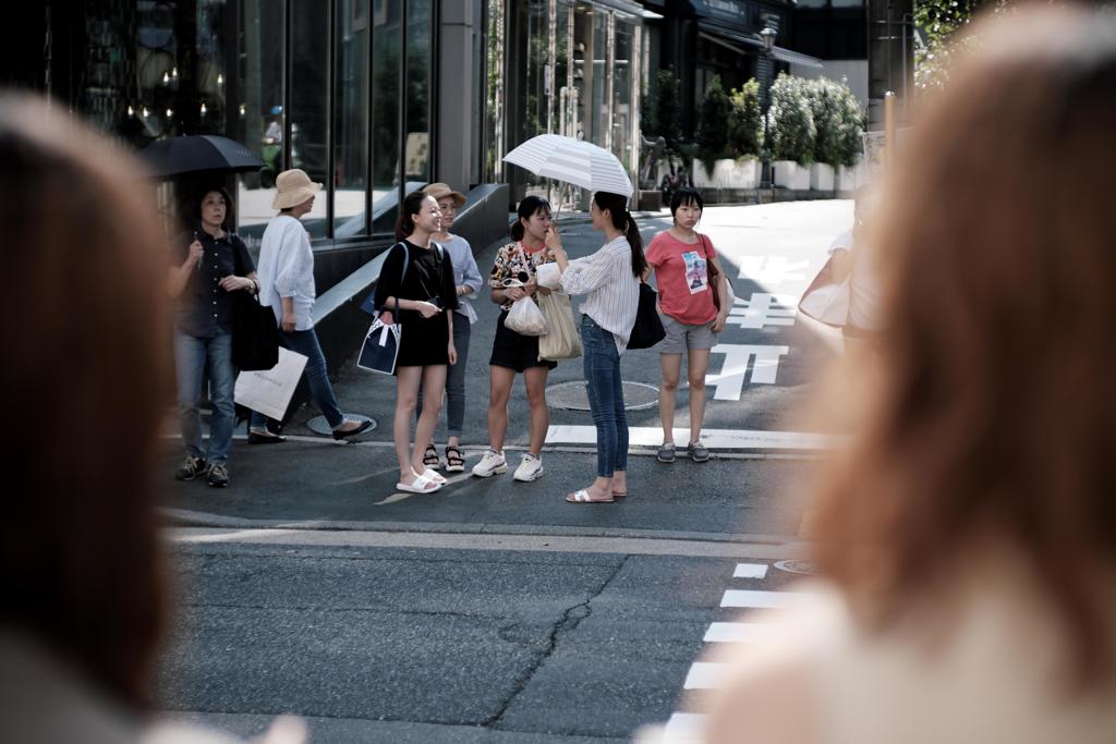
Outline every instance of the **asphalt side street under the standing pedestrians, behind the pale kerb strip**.
<svg viewBox="0 0 1116 744">
<path fill-rule="evenodd" d="M 808 281 L 817 270 L 811 264 L 824 262 L 825 248 L 834 234 L 845 229 L 850 212 L 848 202 L 711 207 L 706 211 L 704 230 L 721 249 L 727 264 L 741 268 L 744 278 L 733 281 L 738 298 L 747 299 L 753 291 L 778 291 L 772 289 L 780 279 L 772 273 L 775 264 L 770 258 L 759 255 L 760 251 L 778 257 L 798 271 L 793 276 Z M 636 220 L 647 241 L 668 225 L 670 214 L 637 214 Z M 600 235 L 590 230 L 585 213 L 564 215 L 561 225 L 567 250 L 574 257 L 588 254 L 600 244 Z M 482 276 L 488 274 L 502 243 L 475 251 Z M 732 270 L 730 276 L 735 277 Z M 798 534 L 802 484 L 817 452 L 778 446 L 714 451 L 713 461 L 705 464 L 680 456 L 674 464 L 663 465 L 650 456 L 654 447 L 636 446 L 629 460 L 632 495 L 627 501 L 612 505 L 567 504 L 564 495 L 584 487 L 593 479 L 596 456 L 589 437 L 581 443 L 548 444 L 543 448 L 546 475 L 533 483 L 514 483 L 511 471 L 527 445 L 528 407 L 521 380 L 513 387 L 510 404 L 511 425 L 506 444 L 509 473 L 488 480 L 469 475 L 468 468 L 477 462 L 488 439 L 488 360 L 499 313 L 484 291 L 474 307 L 480 320 L 472 327 L 468 359 L 462 437 L 466 471 L 456 474 L 451 485 L 435 494 L 408 496 L 395 492 L 398 472 L 391 433 L 395 405 L 393 380 L 356 369 L 350 361 L 336 376 L 337 398 L 345 410 L 375 418 L 378 426 L 374 432 L 355 444 L 315 436 L 305 424 L 318 412 L 312 406 L 304 407 L 286 428 L 290 437 L 286 444 L 249 446 L 242 438 L 234 442 L 229 460 L 232 485 L 225 490 L 209 489 L 202 482 L 171 481 L 170 473 L 180 454 L 177 442 L 167 439 L 163 463 L 163 472 L 167 473 L 166 505 L 180 510 L 181 521 L 195 524 L 218 524 L 221 518 L 231 518 L 251 520 L 251 524 L 258 525 L 310 522 L 321 529 L 632 535 L 654 532 L 657 537 L 679 534 L 712 540 L 733 540 L 741 534 L 752 535 L 750 539 L 764 535 L 795 539 Z M 777 341 L 791 351 L 779 360 L 777 384 L 767 385 L 747 381 L 747 375 L 754 371 L 751 367 L 730 374 L 729 357 L 722 360 L 715 355 L 710 373 L 720 373 L 719 385 L 728 387 L 709 388 L 705 428 L 793 432 L 787 414 L 808 399 L 818 366 L 831 356 L 833 344 L 839 339 L 802 322 L 749 329 L 750 321 L 751 317 L 739 316 L 738 326 L 725 330 L 722 342 L 731 346 L 738 340 L 747 345 Z M 738 345 L 738 348 L 760 347 Z M 647 349 L 625 354 L 622 371 L 625 380 L 650 386 L 641 388 L 648 390 L 643 394 L 650 406 L 629 410 L 629 426 L 644 432 L 645 439 L 657 437 L 660 422 L 654 406 L 657 352 Z M 548 390 L 564 383 L 575 384 L 576 390 L 583 379 L 579 359 L 564 361 L 550 374 Z M 738 380 L 735 398 L 728 395 L 733 392 L 733 379 Z M 687 426 L 687 390 L 680 390 L 676 427 Z M 551 390 L 551 426 L 591 432 L 588 410 L 558 407 L 558 403 L 568 405 L 577 396 L 562 395 L 561 402 L 558 398 Z M 435 433 L 440 450 L 445 444 L 444 421 L 443 414 Z M 243 434 L 242 425 L 238 435 Z"/>
</svg>

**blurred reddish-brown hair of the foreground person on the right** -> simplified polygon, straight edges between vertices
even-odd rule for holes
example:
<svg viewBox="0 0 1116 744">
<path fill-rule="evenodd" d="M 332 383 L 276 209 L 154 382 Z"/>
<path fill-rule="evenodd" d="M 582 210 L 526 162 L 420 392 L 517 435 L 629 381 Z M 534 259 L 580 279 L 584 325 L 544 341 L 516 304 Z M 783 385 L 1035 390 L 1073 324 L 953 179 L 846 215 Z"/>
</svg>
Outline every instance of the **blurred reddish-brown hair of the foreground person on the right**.
<svg viewBox="0 0 1116 744">
<path fill-rule="evenodd" d="M 1116 666 L 1116 20 L 1009 15 L 975 26 L 883 184 L 879 364 L 814 537 L 877 628 L 1010 545 L 1087 684 Z"/>
</svg>

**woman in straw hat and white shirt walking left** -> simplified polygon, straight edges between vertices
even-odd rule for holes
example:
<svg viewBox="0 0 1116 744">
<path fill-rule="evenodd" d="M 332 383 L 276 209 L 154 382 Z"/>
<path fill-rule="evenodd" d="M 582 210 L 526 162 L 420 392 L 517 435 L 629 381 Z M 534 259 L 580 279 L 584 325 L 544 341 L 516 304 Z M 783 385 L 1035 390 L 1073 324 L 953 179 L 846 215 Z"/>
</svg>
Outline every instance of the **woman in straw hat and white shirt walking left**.
<svg viewBox="0 0 1116 744">
<path fill-rule="evenodd" d="M 310 235 L 299 221 L 314 209 L 320 183 L 312 183 L 305 171 L 283 171 L 276 178 L 276 196 L 271 209 L 278 216 L 268 223 L 260 240 L 260 303 L 271 306 L 279 322 L 282 345 L 306 357 L 306 381 L 310 397 L 321 409 L 335 439 L 355 436 L 368 429 L 372 422 L 346 421 L 337 406 L 334 388 L 326 371 L 326 358 L 314 332 L 314 251 Z M 271 432 L 267 417 L 253 412 L 249 422 L 249 444 L 272 444 L 283 437 Z"/>
</svg>

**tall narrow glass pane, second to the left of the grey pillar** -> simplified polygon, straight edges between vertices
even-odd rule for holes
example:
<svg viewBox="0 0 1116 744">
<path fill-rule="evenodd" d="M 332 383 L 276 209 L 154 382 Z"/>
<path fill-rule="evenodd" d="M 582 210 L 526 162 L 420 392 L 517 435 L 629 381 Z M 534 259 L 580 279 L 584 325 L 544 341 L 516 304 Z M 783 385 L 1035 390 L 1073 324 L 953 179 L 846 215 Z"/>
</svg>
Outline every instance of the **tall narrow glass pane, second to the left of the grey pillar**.
<svg viewBox="0 0 1116 744">
<path fill-rule="evenodd" d="M 373 232 L 391 232 L 398 210 L 401 1 L 373 0 Z"/>
</svg>

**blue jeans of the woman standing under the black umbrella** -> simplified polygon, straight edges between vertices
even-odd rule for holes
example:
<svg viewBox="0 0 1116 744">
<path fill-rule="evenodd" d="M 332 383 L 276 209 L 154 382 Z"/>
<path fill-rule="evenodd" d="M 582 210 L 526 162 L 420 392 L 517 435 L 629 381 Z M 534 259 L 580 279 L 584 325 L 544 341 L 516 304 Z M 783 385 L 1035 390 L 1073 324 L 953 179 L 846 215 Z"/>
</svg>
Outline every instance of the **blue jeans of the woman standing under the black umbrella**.
<svg viewBox="0 0 1116 744">
<path fill-rule="evenodd" d="M 209 371 L 210 418 L 209 452 L 202 447 L 202 376 Z M 182 443 L 194 457 L 204 457 L 214 465 L 229 461 L 235 408 L 232 390 L 235 376 L 232 369 L 232 334 L 218 334 L 213 338 L 199 338 L 174 330 L 174 373 L 179 385 L 179 418 Z"/>
</svg>

